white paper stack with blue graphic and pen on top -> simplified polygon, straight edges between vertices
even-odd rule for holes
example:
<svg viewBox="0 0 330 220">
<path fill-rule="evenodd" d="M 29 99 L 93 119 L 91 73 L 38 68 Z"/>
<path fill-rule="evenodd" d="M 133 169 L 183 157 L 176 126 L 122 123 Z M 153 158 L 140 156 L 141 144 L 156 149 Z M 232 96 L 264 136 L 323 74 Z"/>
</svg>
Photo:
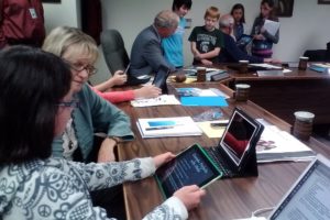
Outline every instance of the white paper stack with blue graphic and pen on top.
<svg viewBox="0 0 330 220">
<path fill-rule="evenodd" d="M 190 117 L 139 119 L 136 124 L 143 139 L 202 134 Z"/>
</svg>

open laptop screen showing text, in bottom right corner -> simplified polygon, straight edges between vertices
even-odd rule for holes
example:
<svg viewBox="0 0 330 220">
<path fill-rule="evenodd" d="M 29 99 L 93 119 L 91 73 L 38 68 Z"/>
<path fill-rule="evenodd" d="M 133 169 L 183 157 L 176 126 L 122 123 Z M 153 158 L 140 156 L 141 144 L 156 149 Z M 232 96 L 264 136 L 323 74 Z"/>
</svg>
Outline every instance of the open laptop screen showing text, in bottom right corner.
<svg viewBox="0 0 330 220">
<path fill-rule="evenodd" d="M 330 219 L 329 198 L 330 161 L 318 155 L 268 219 Z"/>
</svg>

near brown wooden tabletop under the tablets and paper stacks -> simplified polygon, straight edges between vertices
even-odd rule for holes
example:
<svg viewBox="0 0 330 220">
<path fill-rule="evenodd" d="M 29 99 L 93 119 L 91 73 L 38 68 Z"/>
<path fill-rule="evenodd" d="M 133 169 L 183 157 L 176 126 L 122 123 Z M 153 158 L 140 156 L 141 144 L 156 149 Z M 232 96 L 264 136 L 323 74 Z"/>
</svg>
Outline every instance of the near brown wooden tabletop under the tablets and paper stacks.
<svg viewBox="0 0 330 220">
<path fill-rule="evenodd" d="M 187 85 L 177 84 L 176 86 L 186 87 Z M 173 87 L 169 87 L 169 91 L 173 91 Z M 232 90 L 221 84 L 189 84 L 189 87 L 213 87 L 219 88 L 229 96 L 232 95 Z M 283 130 L 290 131 L 288 123 L 251 101 L 237 103 L 234 100 L 229 99 L 228 102 L 229 107 L 221 108 L 226 118 L 229 118 L 233 108 L 238 106 L 253 118 L 263 118 Z M 167 151 L 177 153 L 196 142 L 209 146 L 216 145 L 219 141 L 218 139 L 208 139 L 205 134 L 201 136 L 141 139 L 136 128 L 138 118 L 195 116 L 207 110 L 205 107 L 163 106 L 133 108 L 130 103 L 120 103 L 118 106 L 131 117 L 132 129 L 136 134 L 133 142 L 123 143 L 118 147 L 120 161 L 155 156 Z M 329 157 L 329 151 L 321 143 L 311 139 L 308 144 Z M 189 219 L 248 218 L 256 209 L 273 207 L 307 165 L 308 163 L 263 164 L 258 165 L 258 177 L 218 180 L 207 187 L 207 195 L 202 198 L 200 206 L 189 212 Z M 142 219 L 163 201 L 161 191 L 153 177 L 141 182 L 127 183 L 123 189 L 129 220 Z"/>
</svg>

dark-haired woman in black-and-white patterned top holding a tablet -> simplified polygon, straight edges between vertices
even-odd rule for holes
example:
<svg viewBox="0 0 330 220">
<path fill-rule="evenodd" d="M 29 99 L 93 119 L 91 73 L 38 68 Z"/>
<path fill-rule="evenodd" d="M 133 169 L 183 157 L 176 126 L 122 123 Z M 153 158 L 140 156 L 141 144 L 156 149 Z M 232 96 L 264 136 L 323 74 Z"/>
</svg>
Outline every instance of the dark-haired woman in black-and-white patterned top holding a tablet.
<svg viewBox="0 0 330 220">
<path fill-rule="evenodd" d="M 0 53 L 0 219 L 107 219 L 90 191 L 152 175 L 172 153 L 82 164 L 51 157 L 77 102 L 59 57 L 13 46 Z M 144 219 L 187 219 L 205 191 L 183 187 Z"/>
</svg>

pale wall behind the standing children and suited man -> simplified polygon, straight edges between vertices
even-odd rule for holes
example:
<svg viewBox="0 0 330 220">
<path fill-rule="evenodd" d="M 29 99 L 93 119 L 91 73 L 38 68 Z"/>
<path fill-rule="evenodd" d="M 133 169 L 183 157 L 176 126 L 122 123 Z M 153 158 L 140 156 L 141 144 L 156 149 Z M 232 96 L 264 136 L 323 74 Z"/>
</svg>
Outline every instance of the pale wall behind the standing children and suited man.
<svg viewBox="0 0 330 220">
<path fill-rule="evenodd" d="M 162 9 L 169 9 L 172 0 L 102 0 L 103 28 L 118 29 L 124 38 L 128 52 L 136 34 L 150 25 L 154 15 Z M 252 26 L 258 14 L 261 0 L 195 0 L 186 18 L 193 19 L 193 26 L 204 24 L 204 13 L 209 6 L 216 6 L 221 13 L 228 13 L 234 3 L 245 7 L 246 23 Z M 274 46 L 274 57 L 282 61 L 297 61 L 307 48 L 326 48 L 330 41 L 330 4 L 318 4 L 317 0 L 296 0 L 292 18 L 279 18 L 280 38 Z M 186 65 L 191 63 L 186 31 Z"/>
</svg>

